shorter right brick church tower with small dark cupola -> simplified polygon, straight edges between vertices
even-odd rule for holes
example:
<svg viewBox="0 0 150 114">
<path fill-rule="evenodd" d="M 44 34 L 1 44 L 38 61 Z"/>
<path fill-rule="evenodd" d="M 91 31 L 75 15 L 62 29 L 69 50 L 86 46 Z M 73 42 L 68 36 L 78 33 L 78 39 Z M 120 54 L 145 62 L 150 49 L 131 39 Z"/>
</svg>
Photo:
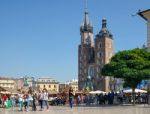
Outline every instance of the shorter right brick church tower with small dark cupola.
<svg viewBox="0 0 150 114">
<path fill-rule="evenodd" d="M 95 69 L 97 73 L 95 83 L 97 90 L 110 90 L 110 78 L 100 76 L 100 72 L 103 65 L 110 61 L 112 55 L 113 36 L 107 29 L 107 20 L 102 19 L 102 28 L 95 38 Z"/>
</svg>

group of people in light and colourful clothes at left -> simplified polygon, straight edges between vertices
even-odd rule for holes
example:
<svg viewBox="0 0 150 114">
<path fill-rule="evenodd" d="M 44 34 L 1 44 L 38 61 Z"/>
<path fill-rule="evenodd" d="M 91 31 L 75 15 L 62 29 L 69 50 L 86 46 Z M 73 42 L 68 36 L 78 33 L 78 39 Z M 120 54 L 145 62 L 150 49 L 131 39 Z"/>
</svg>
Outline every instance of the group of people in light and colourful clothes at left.
<svg viewBox="0 0 150 114">
<path fill-rule="evenodd" d="M 22 91 L 17 95 L 1 95 L 0 96 L 0 107 L 2 108 L 14 108 L 19 107 L 19 111 L 29 111 L 30 107 L 32 111 L 36 111 L 36 106 L 40 106 L 42 111 L 44 107 L 49 108 L 48 103 L 48 92 L 46 89 L 35 92 L 32 89 L 28 91 Z"/>
</svg>

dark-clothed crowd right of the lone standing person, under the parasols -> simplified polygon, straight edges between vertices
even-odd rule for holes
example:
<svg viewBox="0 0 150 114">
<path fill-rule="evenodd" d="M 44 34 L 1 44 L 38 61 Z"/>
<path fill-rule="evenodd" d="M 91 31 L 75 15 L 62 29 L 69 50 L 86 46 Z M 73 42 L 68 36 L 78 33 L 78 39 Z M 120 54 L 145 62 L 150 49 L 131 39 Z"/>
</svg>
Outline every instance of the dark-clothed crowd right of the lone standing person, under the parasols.
<svg viewBox="0 0 150 114">
<path fill-rule="evenodd" d="M 147 93 L 138 93 L 135 96 L 135 101 L 138 104 L 147 104 L 148 95 Z M 77 104 L 86 105 L 119 105 L 119 104 L 131 104 L 133 103 L 133 98 L 131 94 L 126 94 L 123 92 L 115 93 L 109 92 L 105 94 L 88 94 L 84 96 L 76 96 Z"/>
</svg>

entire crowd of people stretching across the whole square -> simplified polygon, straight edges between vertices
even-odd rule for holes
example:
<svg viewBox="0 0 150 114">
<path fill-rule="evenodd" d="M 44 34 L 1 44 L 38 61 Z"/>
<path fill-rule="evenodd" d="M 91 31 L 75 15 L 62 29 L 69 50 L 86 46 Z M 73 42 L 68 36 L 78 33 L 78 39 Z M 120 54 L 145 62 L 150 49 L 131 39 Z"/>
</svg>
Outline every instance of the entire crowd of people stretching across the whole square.
<svg viewBox="0 0 150 114">
<path fill-rule="evenodd" d="M 138 93 L 136 95 L 137 103 L 147 103 L 147 93 Z M 57 96 L 55 99 L 50 100 L 48 91 L 46 89 L 34 91 L 29 88 L 28 91 L 22 91 L 18 95 L 1 95 L 0 107 L 2 108 L 14 108 L 18 107 L 19 111 L 36 111 L 37 106 L 40 110 L 49 109 L 49 105 L 66 105 L 70 108 L 73 105 L 114 105 L 132 103 L 131 95 L 126 95 L 123 92 L 115 93 L 109 92 L 107 94 L 75 94 L 73 89 L 70 88 L 67 95 Z"/>
</svg>

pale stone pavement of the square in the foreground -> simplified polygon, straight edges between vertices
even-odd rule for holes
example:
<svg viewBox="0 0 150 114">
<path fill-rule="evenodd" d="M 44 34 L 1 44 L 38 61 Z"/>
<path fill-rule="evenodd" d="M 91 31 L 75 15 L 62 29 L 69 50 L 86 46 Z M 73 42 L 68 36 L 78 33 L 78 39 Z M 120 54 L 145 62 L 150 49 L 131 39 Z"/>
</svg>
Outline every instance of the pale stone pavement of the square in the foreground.
<svg viewBox="0 0 150 114">
<path fill-rule="evenodd" d="M 18 111 L 2 109 L 0 114 L 150 114 L 150 106 L 105 106 L 105 107 L 69 107 L 50 106 L 43 111 Z"/>
</svg>

